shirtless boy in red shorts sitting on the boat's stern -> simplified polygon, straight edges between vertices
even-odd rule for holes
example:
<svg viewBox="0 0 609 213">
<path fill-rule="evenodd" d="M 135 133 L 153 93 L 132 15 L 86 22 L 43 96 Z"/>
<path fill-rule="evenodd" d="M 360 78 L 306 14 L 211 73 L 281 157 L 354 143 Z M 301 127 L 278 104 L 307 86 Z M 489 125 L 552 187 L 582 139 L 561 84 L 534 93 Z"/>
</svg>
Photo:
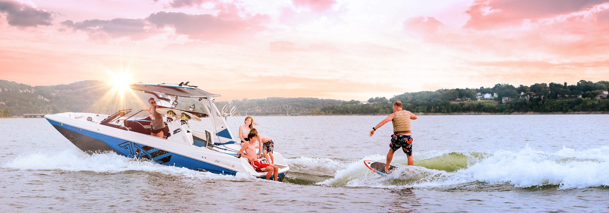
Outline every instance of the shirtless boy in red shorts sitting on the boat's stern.
<svg viewBox="0 0 609 213">
<path fill-rule="evenodd" d="M 247 134 L 247 138 L 249 139 L 249 141 L 247 143 L 245 143 L 245 145 L 243 145 L 243 147 L 241 147 L 241 150 L 239 150 L 239 152 L 238 152 L 239 153 L 238 156 L 247 158 L 247 161 L 250 162 L 250 164 L 252 165 L 252 167 L 254 167 L 254 170 L 256 170 L 256 172 L 265 172 L 266 171 L 267 172 L 266 180 L 269 180 L 271 175 L 275 175 L 275 176 L 273 176 L 273 180 L 277 181 L 277 176 L 279 175 L 279 167 L 277 167 L 275 165 L 270 165 L 270 164 L 263 164 L 260 161 L 258 161 L 258 155 L 256 155 L 256 143 L 255 143 L 257 140 L 259 140 L 258 134 L 250 131 L 250 133 Z M 245 150 L 245 155 L 243 155 L 244 150 Z"/>
</svg>

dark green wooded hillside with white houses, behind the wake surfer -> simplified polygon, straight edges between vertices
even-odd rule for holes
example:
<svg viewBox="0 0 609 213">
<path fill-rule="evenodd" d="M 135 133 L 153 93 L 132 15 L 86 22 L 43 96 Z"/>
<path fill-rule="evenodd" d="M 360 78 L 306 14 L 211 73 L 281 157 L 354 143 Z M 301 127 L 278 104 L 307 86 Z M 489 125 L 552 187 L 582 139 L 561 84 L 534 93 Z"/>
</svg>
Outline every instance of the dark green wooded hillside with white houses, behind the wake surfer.
<svg viewBox="0 0 609 213">
<path fill-rule="evenodd" d="M 342 104 L 321 108 L 315 114 L 389 114 L 392 102 L 400 100 L 404 109 L 417 113 L 568 113 L 609 111 L 609 99 L 597 100 L 609 82 L 581 80 L 576 85 L 535 83 L 530 86 L 496 84 L 490 88 L 438 89 L 368 99 L 370 104 Z M 484 94 L 495 94 L 490 99 Z M 502 103 L 507 97 L 509 103 Z M 457 102 L 456 100 L 459 102 Z"/>
</svg>

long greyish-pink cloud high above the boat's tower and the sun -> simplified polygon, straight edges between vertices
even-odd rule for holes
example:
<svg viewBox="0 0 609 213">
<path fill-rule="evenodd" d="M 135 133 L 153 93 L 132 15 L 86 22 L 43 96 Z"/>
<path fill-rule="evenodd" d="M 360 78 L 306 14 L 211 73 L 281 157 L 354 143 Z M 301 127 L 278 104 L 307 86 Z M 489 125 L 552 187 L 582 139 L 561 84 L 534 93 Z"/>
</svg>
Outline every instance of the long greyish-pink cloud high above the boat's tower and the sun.
<svg viewBox="0 0 609 213">
<path fill-rule="evenodd" d="M 186 7 L 200 2 L 203 1 L 174 1 L 172 4 Z M 86 32 L 91 40 L 99 41 L 123 37 L 131 40 L 144 40 L 165 33 L 162 30 L 165 27 L 172 27 L 176 35 L 186 35 L 191 40 L 227 43 L 240 41 L 240 38 L 264 30 L 266 29 L 264 25 L 270 22 L 269 15 L 258 13 L 249 15 L 233 3 L 217 2 L 213 10 L 218 11 L 217 15 L 163 11 L 151 13 L 147 18 L 91 19 L 81 22 L 67 20 L 62 24 L 71 29 Z M 242 15 L 244 13 L 245 15 Z"/>
</svg>

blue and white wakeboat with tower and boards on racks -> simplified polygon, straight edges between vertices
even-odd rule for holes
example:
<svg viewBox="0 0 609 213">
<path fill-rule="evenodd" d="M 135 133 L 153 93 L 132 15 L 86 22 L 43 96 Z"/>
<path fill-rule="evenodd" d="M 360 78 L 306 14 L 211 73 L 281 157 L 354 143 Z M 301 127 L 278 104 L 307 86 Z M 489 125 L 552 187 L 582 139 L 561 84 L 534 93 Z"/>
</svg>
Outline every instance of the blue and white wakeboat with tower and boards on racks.
<svg viewBox="0 0 609 213">
<path fill-rule="evenodd" d="M 188 84 L 188 82 L 186 83 Z M 115 152 L 128 158 L 146 159 L 166 166 L 186 167 L 224 175 L 251 173 L 265 178 L 267 172 L 256 172 L 245 158 L 239 158 L 241 140 L 233 138 L 227 117 L 234 106 L 220 111 L 214 104 L 218 94 L 197 86 L 180 84 L 136 83 L 131 89 L 157 97 L 157 112 L 166 124 L 164 138 L 150 135 L 152 130 L 147 110 L 119 110 L 108 116 L 96 113 L 57 113 L 44 116 L 72 144 L 87 153 Z M 205 112 L 178 109 L 178 97 L 195 99 Z M 189 122 L 207 122 L 204 131 L 190 129 Z M 258 152 L 258 149 L 256 149 Z M 290 167 L 281 153 L 273 152 L 281 180 Z M 258 159 L 268 163 L 264 158 Z M 272 177 L 274 178 L 274 177 Z"/>
</svg>

